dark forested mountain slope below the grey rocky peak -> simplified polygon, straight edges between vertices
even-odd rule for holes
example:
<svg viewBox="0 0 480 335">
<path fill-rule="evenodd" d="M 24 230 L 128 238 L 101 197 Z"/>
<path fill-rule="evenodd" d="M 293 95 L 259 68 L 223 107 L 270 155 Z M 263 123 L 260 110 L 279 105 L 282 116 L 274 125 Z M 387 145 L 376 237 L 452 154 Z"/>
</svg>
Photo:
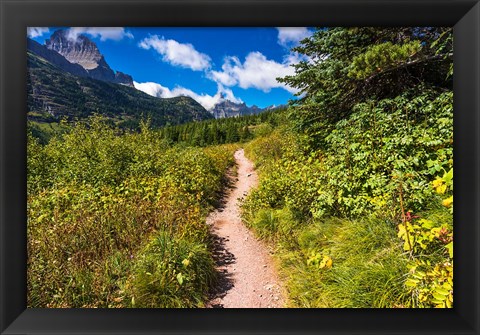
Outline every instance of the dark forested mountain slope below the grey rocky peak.
<svg viewBox="0 0 480 335">
<path fill-rule="evenodd" d="M 36 123 L 98 113 L 120 128 L 137 129 L 145 119 L 161 127 L 213 118 L 192 98 L 155 98 L 126 85 L 73 75 L 32 51 L 27 51 L 27 66 L 27 119 Z"/>
</svg>

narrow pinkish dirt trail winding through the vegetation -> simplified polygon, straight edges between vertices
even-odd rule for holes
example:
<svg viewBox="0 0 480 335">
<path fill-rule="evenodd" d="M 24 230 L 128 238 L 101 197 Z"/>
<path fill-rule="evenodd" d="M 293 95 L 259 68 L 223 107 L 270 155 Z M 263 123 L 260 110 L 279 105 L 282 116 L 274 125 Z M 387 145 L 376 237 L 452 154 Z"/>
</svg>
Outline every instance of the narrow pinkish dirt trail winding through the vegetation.
<svg viewBox="0 0 480 335">
<path fill-rule="evenodd" d="M 243 149 L 235 152 L 235 160 L 238 176 L 229 175 L 234 186 L 225 195 L 224 205 L 207 218 L 216 240 L 214 256 L 221 277 L 207 307 L 283 307 L 282 288 L 268 248 L 240 219 L 239 202 L 258 184 L 258 177 Z"/>
</svg>

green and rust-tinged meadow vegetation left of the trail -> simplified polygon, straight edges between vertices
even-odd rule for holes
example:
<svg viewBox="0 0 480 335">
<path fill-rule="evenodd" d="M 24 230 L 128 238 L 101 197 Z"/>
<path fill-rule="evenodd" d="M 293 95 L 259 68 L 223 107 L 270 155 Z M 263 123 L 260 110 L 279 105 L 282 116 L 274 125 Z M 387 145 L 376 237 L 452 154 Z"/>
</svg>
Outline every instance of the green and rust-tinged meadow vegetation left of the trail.
<svg viewBox="0 0 480 335">
<path fill-rule="evenodd" d="M 170 147 L 100 118 L 28 138 L 28 305 L 195 307 L 215 282 L 205 217 L 235 145 Z"/>
</svg>

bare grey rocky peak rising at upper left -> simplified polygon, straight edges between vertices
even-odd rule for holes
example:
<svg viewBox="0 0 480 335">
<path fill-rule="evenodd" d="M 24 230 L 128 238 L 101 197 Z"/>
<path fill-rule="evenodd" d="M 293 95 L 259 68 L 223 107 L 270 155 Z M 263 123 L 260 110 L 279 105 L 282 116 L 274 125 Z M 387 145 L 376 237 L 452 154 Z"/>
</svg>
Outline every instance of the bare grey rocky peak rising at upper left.
<svg viewBox="0 0 480 335">
<path fill-rule="evenodd" d="M 84 35 L 72 37 L 66 30 L 57 30 L 46 40 L 45 48 L 60 54 L 71 64 L 81 66 L 90 78 L 133 87 L 132 77 L 122 72 L 115 73 L 97 45 Z M 47 60 L 55 64 L 52 59 Z"/>
</svg>

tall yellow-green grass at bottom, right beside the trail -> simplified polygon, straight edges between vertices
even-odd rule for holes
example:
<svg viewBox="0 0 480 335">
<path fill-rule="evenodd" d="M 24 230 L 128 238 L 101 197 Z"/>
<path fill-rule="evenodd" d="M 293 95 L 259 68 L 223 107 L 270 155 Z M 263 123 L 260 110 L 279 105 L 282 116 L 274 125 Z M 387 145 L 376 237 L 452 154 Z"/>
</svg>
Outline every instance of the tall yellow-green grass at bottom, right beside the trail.
<svg viewBox="0 0 480 335">
<path fill-rule="evenodd" d="M 290 298 L 302 307 L 400 307 L 405 255 L 392 227 L 379 219 L 315 221 L 299 232 L 299 253 L 282 257 Z M 328 256 L 332 266 L 309 262 Z M 293 261 L 296 260 L 296 261 Z"/>
</svg>

